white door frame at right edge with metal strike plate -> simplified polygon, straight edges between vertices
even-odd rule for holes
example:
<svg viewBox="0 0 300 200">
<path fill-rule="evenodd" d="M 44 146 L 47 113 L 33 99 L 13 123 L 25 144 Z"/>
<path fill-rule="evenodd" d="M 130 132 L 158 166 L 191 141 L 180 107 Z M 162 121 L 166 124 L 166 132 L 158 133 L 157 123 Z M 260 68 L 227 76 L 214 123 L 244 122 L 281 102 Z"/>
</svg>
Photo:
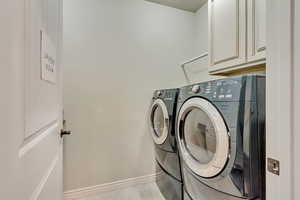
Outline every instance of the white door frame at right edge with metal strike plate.
<svg viewBox="0 0 300 200">
<path fill-rule="evenodd" d="M 295 72 L 299 70 L 294 65 L 295 2 L 267 0 L 266 157 L 280 162 L 279 176 L 266 172 L 267 200 L 296 200 L 299 181 L 294 178 L 295 147 L 300 145 L 295 140 L 299 129 L 295 97 L 300 94 L 295 90 Z"/>
</svg>

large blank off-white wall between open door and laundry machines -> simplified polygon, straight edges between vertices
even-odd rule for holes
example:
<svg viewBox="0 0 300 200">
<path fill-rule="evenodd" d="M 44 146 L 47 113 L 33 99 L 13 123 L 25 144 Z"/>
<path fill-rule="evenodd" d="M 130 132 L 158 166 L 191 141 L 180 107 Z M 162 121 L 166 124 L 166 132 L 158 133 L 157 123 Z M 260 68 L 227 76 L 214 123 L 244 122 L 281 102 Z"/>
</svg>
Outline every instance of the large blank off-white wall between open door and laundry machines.
<svg viewBox="0 0 300 200">
<path fill-rule="evenodd" d="M 65 190 L 154 173 L 146 111 L 154 89 L 185 84 L 195 20 L 143 0 L 64 0 Z"/>
</svg>

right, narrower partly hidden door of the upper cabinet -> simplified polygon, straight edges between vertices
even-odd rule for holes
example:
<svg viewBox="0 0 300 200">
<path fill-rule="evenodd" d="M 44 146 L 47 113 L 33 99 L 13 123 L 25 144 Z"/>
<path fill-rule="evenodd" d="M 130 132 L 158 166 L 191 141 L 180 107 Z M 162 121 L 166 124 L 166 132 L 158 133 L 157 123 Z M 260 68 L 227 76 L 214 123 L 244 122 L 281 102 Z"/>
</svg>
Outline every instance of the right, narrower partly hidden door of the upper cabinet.
<svg viewBox="0 0 300 200">
<path fill-rule="evenodd" d="M 248 62 L 266 58 L 266 0 L 248 0 Z"/>
</svg>

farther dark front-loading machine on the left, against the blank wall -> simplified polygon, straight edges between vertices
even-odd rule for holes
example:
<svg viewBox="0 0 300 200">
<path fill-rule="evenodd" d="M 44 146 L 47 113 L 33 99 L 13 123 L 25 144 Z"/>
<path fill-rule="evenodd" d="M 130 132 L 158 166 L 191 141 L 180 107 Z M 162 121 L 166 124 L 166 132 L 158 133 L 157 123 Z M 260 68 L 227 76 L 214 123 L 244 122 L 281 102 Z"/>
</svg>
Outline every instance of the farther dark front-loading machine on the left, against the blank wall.
<svg viewBox="0 0 300 200">
<path fill-rule="evenodd" d="M 181 200 L 183 186 L 175 137 L 176 103 L 179 89 L 154 92 L 148 114 L 155 146 L 156 183 L 166 200 Z"/>
</svg>

